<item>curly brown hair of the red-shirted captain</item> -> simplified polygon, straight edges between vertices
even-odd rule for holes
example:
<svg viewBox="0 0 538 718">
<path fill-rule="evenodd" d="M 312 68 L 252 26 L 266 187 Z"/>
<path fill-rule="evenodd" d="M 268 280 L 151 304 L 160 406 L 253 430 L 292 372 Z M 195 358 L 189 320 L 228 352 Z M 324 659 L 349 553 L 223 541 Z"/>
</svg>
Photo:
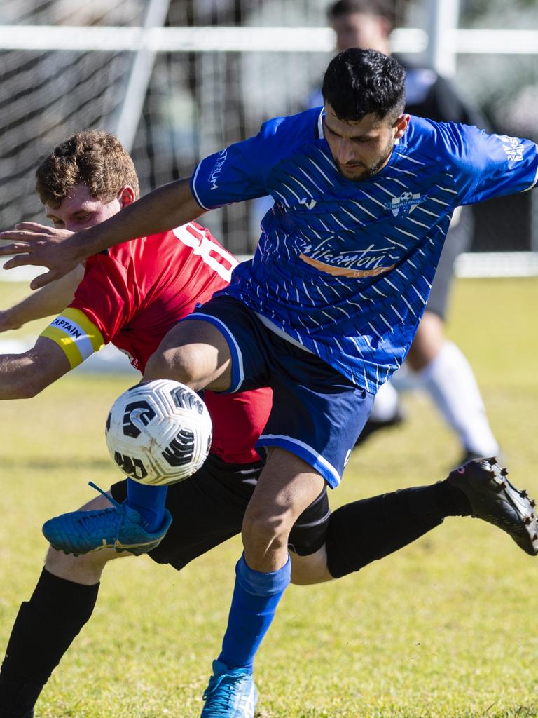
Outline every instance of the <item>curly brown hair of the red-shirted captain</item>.
<svg viewBox="0 0 538 718">
<path fill-rule="evenodd" d="M 35 173 L 36 191 L 43 204 L 60 207 L 67 193 L 80 183 L 92 197 L 111 202 L 122 187 L 133 187 L 138 199 L 138 176 L 121 142 L 103 130 L 83 130 L 52 150 Z"/>
</svg>

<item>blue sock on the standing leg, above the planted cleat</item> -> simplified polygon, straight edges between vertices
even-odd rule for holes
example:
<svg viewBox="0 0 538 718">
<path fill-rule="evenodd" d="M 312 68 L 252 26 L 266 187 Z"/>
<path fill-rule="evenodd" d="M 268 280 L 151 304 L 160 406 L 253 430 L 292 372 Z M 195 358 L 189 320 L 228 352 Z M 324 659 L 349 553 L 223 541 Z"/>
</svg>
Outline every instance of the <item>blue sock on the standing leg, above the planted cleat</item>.
<svg viewBox="0 0 538 718">
<path fill-rule="evenodd" d="M 254 656 L 291 580 L 291 561 L 263 574 L 247 566 L 245 554 L 235 567 L 235 589 L 219 661 L 228 668 L 253 671 Z"/>
</svg>

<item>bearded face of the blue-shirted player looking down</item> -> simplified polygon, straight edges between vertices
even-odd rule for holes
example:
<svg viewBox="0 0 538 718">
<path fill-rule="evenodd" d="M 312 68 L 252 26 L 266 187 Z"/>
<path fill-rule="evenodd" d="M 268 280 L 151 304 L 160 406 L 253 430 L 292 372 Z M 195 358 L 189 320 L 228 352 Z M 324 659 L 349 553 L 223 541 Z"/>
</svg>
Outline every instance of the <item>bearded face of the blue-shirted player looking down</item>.
<svg viewBox="0 0 538 718">
<path fill-rule="evenodd" d="M 326 103 L 324 135 L 331 149 L 334 163 L 346 180 L 367 180 L 382 169 L 390 159 L 395 140 L 405 133 L 409 115 L 400 115 L 392 124 L 367 115 L 358 122 L 336 117 Z"/>
</svg>

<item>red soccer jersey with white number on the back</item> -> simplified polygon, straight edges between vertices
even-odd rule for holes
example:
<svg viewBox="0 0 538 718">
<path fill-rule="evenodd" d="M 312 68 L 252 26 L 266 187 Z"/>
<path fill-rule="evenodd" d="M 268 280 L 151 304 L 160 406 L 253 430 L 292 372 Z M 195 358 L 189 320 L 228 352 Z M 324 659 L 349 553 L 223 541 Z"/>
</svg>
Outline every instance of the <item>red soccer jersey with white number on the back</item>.
<svg viewBox="0 0 538 718">
<path fill-rule="evenodd" d="M 230 281 L 237 260 L 209 230 L 189 223 L 116 245 L 88 258 L 70 307 L 143 372 L 166 332 Z M 254 444 L 268 419 L 269 388 L 204 393 L 213 422 L 212 452 L 230 463 L 259 460 Z"/>
</svg>

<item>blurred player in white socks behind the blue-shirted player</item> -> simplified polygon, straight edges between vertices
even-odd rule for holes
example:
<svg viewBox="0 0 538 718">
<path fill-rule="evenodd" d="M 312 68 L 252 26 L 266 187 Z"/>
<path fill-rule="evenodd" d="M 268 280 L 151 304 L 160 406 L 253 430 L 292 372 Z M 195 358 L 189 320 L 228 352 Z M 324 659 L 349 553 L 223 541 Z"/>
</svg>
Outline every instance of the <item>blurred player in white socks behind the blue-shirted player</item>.
<svg viewBox="0 0 538 718">
<path fill-rule="evenodd" d="M 336 49 L 349 47 L 378 50 L 390 55 L 390 34 L 396 22 L 395 0 L 339 0 L 327 16 L 336 33 Z M 398 57 L 402 62 L 402 57 Z M 402 62 L 405 111 L 437 122 L 461 122 L 486 128 L 487 121 L 464 100 L 450 80 L 430 67 Z M 323 104 L 321 90 L 309 98 L 309 106 Z M 359 442 L 384 426 L 404 418 L 396 387 L 421 388 L 431 397 L 461 444 L 460 464 L 477 457 L 494 456 L 499 444 L 491 432 L 482 397 L 471 365 L 461 350 L 445 337 L 445 319 L 456 257 L 469 247 L 473 234 L 473 210 L 459 208 L 450 225 L 424 316 L 412 342 L 405 371 L 400 371 L 377 393 L 374 409 Z"/>
</svg>

